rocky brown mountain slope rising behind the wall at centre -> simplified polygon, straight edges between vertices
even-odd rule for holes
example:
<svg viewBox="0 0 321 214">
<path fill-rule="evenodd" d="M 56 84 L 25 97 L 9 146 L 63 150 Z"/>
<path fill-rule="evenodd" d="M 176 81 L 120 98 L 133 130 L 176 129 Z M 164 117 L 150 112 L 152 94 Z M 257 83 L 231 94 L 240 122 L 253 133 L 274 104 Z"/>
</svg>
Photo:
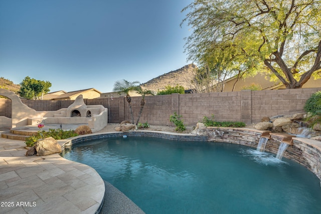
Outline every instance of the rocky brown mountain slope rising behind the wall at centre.
<svg viewBox="0 0 321 214">
<path fill-rule="evenodd" d="M 185 90 L 188 90 L 193 87 L 191 80 L 194 78 L 196 70 L 196 65 L 189 64 L 175 71 L 155 77 L 142 83 L 141 86 L 154 92 L 165 90 L 165 87 L 168 85 L 172 87 L 181 85 Z"/>
</svg>

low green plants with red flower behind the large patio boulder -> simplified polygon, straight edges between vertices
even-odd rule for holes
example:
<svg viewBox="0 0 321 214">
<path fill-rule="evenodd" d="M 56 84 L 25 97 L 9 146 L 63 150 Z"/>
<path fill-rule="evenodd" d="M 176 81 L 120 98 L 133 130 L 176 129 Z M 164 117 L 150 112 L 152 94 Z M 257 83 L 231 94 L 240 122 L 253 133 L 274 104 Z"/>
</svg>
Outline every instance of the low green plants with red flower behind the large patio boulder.
<svg viewBox="0 0 321 214">
<path fill-rule="evenodd" d="M 26 139 L 26 145 L 28 147 L 32 147 L 39 139 L 43 139 L 46 137 L 52 137 L 56 140 L 66 139 L 69 137 L 78 136 L 74 130 L 64 131 L 61 129 L 49 129 L 48 132 L 46 131 L 38 131 L 37 134 L 33 134 L 32 136 Z"/>
</svg>

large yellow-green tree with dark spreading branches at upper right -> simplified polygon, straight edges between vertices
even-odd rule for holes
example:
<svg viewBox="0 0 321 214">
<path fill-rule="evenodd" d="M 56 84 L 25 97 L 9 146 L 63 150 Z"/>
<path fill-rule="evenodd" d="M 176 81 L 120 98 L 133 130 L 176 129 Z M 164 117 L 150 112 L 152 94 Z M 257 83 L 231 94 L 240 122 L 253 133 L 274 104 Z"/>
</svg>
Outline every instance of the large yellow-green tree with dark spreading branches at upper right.
<svg viewBox="0 0 321 214">
<path fill-rule="evenodd" d="M 321 1 L 195 0 L 184 11 L 189 60 L 205 65 L 221 51 L 223 66 L 264 65 L 286 88 L 321 77 Z"/>
</svg>

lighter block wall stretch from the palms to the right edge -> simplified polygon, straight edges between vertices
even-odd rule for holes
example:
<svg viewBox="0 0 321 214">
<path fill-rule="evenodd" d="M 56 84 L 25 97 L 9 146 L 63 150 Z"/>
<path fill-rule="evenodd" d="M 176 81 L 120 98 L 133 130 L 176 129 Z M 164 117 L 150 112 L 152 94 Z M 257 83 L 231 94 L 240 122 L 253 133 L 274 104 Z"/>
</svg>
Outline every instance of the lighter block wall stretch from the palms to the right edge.
<svg viewBox="0 0 321 214">
<path fill-rule="evenodd" d="M 171 114 L 177 112 L 187 125 L 195 125 L 204 116 L 211 117 L 212 114 L 217 121 L 251 124 L 260 122 L 265 116 L 301 113 L 305 101 L 319 90 L 321 88 L 148 96 L 139 121 L 167 125 L 171 124 Z M 132 97 L 131 105 L 136 120 L 140 97 Z M 124 120 L 130 120 L 126 101 L 123 110 Z"/>
</svg>

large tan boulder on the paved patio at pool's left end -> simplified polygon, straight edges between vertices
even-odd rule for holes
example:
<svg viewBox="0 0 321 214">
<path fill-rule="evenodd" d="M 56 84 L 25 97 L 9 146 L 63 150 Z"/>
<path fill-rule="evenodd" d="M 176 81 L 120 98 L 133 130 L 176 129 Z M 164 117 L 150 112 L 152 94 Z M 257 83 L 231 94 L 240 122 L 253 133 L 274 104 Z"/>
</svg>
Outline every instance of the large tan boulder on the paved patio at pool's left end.
<svg viewBox="0 0 321 214">
<path fill-rule="evenodd" d="M 57 140 L 52 137 L 47 137 L 42 140 L 38 140 L 35 149 L 38 156 L 49 155 L 61 152 L 61 146 Z"/>
</svg>

